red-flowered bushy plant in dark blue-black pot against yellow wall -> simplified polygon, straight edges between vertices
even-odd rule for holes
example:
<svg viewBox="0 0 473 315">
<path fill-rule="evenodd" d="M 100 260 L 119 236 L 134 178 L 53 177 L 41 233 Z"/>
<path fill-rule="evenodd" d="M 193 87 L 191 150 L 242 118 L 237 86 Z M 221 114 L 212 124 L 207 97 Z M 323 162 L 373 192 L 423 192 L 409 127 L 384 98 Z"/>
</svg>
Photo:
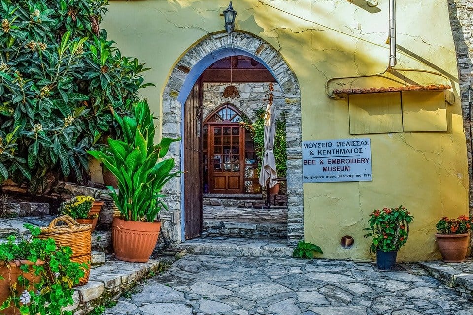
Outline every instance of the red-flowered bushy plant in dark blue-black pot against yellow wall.
<svg viewBox="0 0 473 315">
<path fill-rule="evenodd" d="M 382 270 L 392 270 L 396 264 L 399 249 L 407 242 L 409 224 L 413 216 L 403 206 L 397 208 L 375 209 L 368 223 L 369 228 L 364 230 L 370 233 L 365 237 L 372 237 L 371 252 L 376 253 L 376 266 Z"/>
</svg>

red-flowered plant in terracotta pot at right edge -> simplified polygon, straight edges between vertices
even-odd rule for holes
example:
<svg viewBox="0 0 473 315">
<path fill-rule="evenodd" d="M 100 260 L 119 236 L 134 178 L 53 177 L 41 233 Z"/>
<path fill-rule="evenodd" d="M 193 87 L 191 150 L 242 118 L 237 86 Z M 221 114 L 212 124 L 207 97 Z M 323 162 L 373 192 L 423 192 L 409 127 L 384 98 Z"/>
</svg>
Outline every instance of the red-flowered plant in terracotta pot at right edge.
<svg viewBox="0 0 473 315">
<path fill-rule="evenodd" d="M 469 231 L 473 230 L 473 218 L 457 219 L 443 217 L 436 225 L 437 243 L 444 262 L 463 262 L 468 251 Z"/>
</svg>

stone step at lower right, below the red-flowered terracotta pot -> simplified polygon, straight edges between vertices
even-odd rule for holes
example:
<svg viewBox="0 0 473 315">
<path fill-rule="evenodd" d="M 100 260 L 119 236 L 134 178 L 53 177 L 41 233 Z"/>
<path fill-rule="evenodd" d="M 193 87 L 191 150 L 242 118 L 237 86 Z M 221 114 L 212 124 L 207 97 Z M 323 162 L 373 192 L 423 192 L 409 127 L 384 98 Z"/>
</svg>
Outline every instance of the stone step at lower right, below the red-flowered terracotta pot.
<svg viewBox="0 0 473 315">
<path fill-rule="evenodd" d="M 473 301 L 473 257 L 462 263 L 446 263 L 441 260 L 419 262 L 419 266 L 434 278 L 454 288 L 464 298 Z"/>
</svg>

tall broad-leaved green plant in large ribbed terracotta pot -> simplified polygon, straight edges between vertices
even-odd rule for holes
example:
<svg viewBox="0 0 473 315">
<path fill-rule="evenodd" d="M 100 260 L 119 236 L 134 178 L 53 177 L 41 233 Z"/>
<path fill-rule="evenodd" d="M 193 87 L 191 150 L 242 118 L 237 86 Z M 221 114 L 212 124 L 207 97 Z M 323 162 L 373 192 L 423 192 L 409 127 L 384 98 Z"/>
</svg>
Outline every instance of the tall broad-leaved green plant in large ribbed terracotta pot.
<svg viewBox="0 0 473 315">
<path fill-rule="evenodd" d="M 116 176 L 118 191 L 110 194 L 120 211 L 112 221 L 112 243 L 115 257 L 131 262 L 146 262 L 158 239 L 161 223 L 157 214 L 167 206 L 160 193 L 164 184 L 180 172 L 171 173 L 174 159 L 163 158 L 172 142 L 163 138 L 154 144 L 155 127 L 146 100 L 135 104 L 135 116 L 114 113 L 123 131 L 123 141 L 108 139 L 105 151 L 89 151 L 94 158 Z"/>
</svg>

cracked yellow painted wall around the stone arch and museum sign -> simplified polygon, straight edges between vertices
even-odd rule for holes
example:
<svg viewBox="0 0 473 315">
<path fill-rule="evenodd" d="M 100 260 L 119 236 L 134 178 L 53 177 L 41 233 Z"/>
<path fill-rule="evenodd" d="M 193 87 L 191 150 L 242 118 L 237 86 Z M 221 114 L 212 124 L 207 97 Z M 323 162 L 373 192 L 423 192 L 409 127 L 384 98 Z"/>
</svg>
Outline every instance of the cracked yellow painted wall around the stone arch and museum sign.
<svg viewBox="0 0 473 315">
<path fill-rule="evenodd" d="M 364 2 L 364 1 L 357 1 Z M 374 208 L 402 204 L 414 215 L 409 241 L 398 257 L 438 258 L 435 224 L 442 216 L 467 214 L 468 171 L 458 95 L 455 48 L 447 1 L 397 1 L 398 67 L 439 71 L 449 79 L 415 72 L 347 79 L 329 86 L 360 88 L 408 84 L 453 85 L 447 105 L 447 132 L 370 134 L 372 182 L 304 184 L 305 239 L 320 245 L 326 258 L 370 259 L 362 237 Z M 138 57 L 147 72 L 143 96 L 159 116 L 170 71 L 189 47 L 223 30 L 227 0 L 112 1 L 101 27 L 124 55 Z M 350 138 L 345 100 L 325 95 L 335 76 L 374 74 L 388 63 L 388 1 L 375 8 L 348 0 L 237 0 L 236 29 L 253 33 L 276 48 L 301 86 L 303 140 Z M 339 245 L 351 235 L 349 250 Z"/>
</svg>

